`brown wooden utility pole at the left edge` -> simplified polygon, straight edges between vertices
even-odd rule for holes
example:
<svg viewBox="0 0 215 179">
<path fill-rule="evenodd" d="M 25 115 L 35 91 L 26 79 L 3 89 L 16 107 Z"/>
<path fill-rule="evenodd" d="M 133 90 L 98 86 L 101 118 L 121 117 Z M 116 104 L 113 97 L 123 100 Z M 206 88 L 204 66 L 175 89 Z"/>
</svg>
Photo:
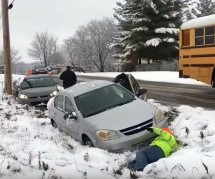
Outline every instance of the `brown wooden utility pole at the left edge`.
<svg viewBox="0 0 215 179">
<path fill-rule="evenodd" d="M 2 28 L 4 51 L 4 88 L 9 95 L 12 94 L 11 59 L 10 59 L 10 32 L 8 20 L 8 0 L 2 0 Z"/>
</svg>

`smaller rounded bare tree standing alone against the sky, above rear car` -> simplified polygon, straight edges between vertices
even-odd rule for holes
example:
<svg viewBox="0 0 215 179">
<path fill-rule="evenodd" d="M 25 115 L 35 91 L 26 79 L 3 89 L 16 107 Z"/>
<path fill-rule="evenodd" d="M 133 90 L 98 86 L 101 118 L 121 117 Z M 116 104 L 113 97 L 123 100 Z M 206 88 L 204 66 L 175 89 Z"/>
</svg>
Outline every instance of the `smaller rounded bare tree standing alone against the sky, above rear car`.
<svg viewBox="0 0 215 179">
<path fill-rule="evenodd" d="M 28 55 L 48 65 L 50 57 L 57 51 L 57 39 L 53 35 L 45 33 L 35 33 Z"/>
</svg>

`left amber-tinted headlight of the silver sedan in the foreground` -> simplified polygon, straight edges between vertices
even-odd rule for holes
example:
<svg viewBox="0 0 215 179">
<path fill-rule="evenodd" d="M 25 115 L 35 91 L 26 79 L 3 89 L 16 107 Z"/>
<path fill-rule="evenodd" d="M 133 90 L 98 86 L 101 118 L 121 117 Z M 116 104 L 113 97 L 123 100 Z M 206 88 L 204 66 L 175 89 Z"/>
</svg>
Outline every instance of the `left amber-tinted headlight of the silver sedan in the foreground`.
<svg viewBox="0 0 215 179">
<path fill-rule="evenodd" d="M 96 135 L 100 140 L 113 140 L 119 138 L 119 135 L 116 133 L 116 131 L 105 129 L 98 130 Z"/>
</svg>

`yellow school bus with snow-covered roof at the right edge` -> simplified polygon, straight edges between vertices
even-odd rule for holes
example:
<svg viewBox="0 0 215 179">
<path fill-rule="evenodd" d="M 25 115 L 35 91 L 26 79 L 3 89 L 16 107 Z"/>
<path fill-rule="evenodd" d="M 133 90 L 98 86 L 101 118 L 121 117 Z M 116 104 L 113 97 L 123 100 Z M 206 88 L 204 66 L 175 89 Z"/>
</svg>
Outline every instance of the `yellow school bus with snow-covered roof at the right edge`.
<svg viewBox="0 0 215 179">
<path fill-rule="evenodd" d="M 179 77 L 215 87 L 215 14 L 184 22 L 179 39 Z"/>
</svg>

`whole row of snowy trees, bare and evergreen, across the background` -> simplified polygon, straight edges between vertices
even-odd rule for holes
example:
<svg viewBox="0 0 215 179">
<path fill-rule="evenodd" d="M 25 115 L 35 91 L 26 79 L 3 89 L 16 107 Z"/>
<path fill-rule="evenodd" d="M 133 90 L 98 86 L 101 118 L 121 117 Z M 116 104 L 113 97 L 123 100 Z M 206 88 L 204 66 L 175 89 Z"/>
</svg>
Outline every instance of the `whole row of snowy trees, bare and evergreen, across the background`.
<svg viewBox="0 0 215 179">
<path fill-rule="evenodd" d="M 67 63 L 86 71 L 132 71 L 141 63 L 178 60 L 180 25 L 214 13 L 214 0 L 125 0 L 117 2 L 114 18 L 80 26 L 62 45 L 54 35 L 36 32 L 28 55 L 45 67 Z M 11 58 L 19 62 L 17 50 Z"/>
</svg>

